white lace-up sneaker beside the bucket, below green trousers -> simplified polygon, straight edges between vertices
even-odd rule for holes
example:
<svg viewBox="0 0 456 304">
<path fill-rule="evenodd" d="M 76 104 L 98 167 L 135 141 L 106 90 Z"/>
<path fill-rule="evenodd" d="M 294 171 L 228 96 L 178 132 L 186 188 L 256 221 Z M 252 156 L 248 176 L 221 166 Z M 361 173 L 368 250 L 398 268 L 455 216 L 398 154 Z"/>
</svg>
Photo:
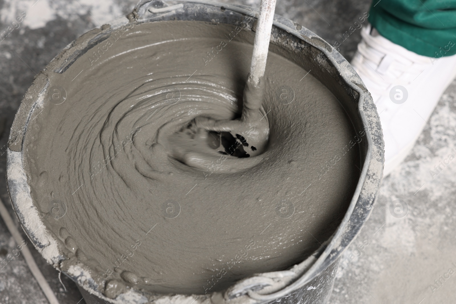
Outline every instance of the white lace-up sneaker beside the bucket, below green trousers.
<svg viewBox="0 0 456 304">
<path fill-rule="evenodd" d="M 385 141 L 383 176 L 409 154 L 440 96 L 456 76 L 456 55 L 425 57 L 380 36 L 371 26 L 352 66 L 372 94 Z"/>
</svg>

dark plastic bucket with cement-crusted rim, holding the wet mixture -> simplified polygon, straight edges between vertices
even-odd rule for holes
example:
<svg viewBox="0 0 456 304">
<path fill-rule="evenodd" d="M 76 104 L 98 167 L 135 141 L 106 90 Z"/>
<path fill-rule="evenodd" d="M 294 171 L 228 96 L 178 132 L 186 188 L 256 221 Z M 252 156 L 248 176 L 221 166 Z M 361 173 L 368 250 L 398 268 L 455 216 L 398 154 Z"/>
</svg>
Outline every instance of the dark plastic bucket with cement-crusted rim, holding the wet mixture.
<svg viewBox="0 0 456 304">
<path fill-rule="evenodd" d="M 246 15 L 258 12 L 248 6 L 227 5 L 206 0 L 164 3 L 161 0 L 141 1 L 132 13 L 110 22 L 110 27 L 91 31 L 92 39 L 73 42 L 55 57 L 46 70 L 64 72 L 81 54 L 95 47 L 113 31 L 135 22 L 169 20 L 212 21 L 238 25 Z M 140 16 L 135 19 L 135 16 Z M 247 30 L 256 26 L 256 18 L 248 23 Z M 205 295 L 155 294 L 145 297 L 131 288 L 115 299 L 108 299 L 97 289 L 97 283 L 83 268 L 65 274 L 78 283 L 88 304 L 94 303 L 176 303 L 176 304 L 248 304 L 248 303 L 326 303 L 332 292 L 337 264 L 341 253 L 356 237 L 372 211 L 383 173 L 383 137 L 380 120 L 373 100 L 358 74 L 347 60 L 326 41 L 306 28 L 281 16 L 275 15 L 270 50 L 293 54 L 293 61 L 311 71 L 338 98 L 356 130 L 365 132 L 359 143 L 361 154 L 360 176 L 347 212 L 332 237 L 293 271 L 263 273 L 236 283 L 223 292 Z M 7 156 L 7 183 L 11 201 L 24 231 L 47 261 L 59 269 L 65 257 L 55 254 L 57 240 L 46 230 L 36 232 L 43 224 L 38 212 L 33 210 L 30 186 L 22 165 L 23 138 L 33 113 L 43 102 L 49 82 L 36 77 L 26 93 L 16 114 L 10 132 Z M 35 114 L 36 115 L 36 114 Z M 44 232 L 43 232 L 44 231 Z"/>
</svg>

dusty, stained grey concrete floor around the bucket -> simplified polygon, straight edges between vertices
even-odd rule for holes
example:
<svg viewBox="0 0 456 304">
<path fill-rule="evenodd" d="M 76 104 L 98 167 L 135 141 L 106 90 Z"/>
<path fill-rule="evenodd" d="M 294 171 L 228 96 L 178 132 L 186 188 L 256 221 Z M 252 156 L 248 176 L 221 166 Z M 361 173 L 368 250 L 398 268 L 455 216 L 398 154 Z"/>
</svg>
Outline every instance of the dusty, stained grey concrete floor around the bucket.
<svg viewBox="0 0 456 304">
<path fill-rule="evenodd" d="M 20 28 L 0 42 L 0 196 L 10 209 L 5 184 L 5 144 L 9 128 L 35 72 L 83 32 L 127 13 L 136 1 L 0 0 L 0 30 L 21 11 Z M 259 0 L 226 1 L 258 6 Z M 276 13 L 306 26 L 330 44 L 339 40 L 368 10 L 364 0 L 279 0 Z M 360 40 L 355 31 L 340 52 L 351 59 Z M 405 163 L 383 180 L 371 217 L 345 252 L 350 263 L 339 267 L 330 303 L 455 303 L 456 166 L 450 163 L 431 178 L 430 170 L 456 146 L 456 82 L 446 90 Z M 395 218 L 389 206 L 401 199 L 407 214 Z M 16 219 L 16 216 L 14 216 Z M 24 236 L 25 237 L 25 236 Z M 360 245 L 368 244 L 359 250 Z M 0 258 L 14 247 L 0 220 Z M 31 248 L 42 272 L 62 304 L 82 304 L 75 284 L 58 273 Z M 441 279 L 440 276 L 446 276 Z M 448 278 L 449 276 L 449 278 Z M 435 280 L 440 279 L 440 286 Z M 431 286 L 434 286 L 432 289 Z M 437 288 L 438 287 L 438 288 Z M 0 303 L 47 303 L 22 256 L 0 269 Z"/>
</svg>

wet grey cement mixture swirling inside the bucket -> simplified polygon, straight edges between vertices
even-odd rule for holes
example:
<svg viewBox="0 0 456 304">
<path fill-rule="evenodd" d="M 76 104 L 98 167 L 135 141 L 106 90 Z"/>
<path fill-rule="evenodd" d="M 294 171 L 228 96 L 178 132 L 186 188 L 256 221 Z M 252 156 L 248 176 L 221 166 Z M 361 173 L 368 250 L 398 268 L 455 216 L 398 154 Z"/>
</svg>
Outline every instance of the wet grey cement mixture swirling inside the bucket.
<svg viewBox="0 0 456 304">
<path fill-rule="evenodd" d="M 311 75 L 299 81 L 307 71 L 269 53 L 264 153 L 235 157 L 208 142 L 217 134 L 207 118 L 240 114 L 253 38 L 205 22 L 141 24 L 62 74 L 44 72 L 50 85 L 26 133 L 24 165 L 67 257 L 62 270 L 88 266 L 110 298 L 133 285 L 205 294 L 300 263 L 334 232 L 358 180 L 359 151 L 335 155 L 358 136 L 327 88 Z M 285 84 L 295 88 L 286 105 Z M 236 146 L 256 150 L 249 130 L 243 135 Z M 324 174 L 321 160 L 331 162 Z"/>
</svg>

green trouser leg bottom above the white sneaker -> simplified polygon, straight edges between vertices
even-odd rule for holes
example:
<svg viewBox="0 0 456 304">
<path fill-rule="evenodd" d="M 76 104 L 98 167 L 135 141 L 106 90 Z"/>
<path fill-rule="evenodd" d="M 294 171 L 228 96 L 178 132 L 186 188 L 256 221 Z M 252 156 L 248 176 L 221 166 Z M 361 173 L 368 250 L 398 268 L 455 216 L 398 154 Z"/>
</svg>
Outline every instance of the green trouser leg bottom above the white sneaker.
<svg viewBox="0 0 456 304">
<path fill-rule="evenodd" d="M 442 57 L 456 54 L 456 26 L 454 24 L 456 10 L 446 8 L 445 15 L 442 15 L 440 14 L 441 10 L 437 8 L 439 13 L 436 11 L 435 14 L 439 17 L 436 17 L 431 11 L 425 12 L 423 8 L 417 7 L 417 5 L 410 7 L 412 1 L 409 0 L 381 1 L 384 1 L 383 5 L 379 5 L 382 2 L 374 0 L 377 4 L 371 5 L 368 17 L 369 22 L 380 35 L 423 56 Z M 407 1 L 409 3 L 404 3 Z M 429 2 L 435 3 L 437 1 L 425 1 L 425 7 L 430 7 Z M 391 5 L 391 2 L 395 2 L 394 5 Z M 404 8 L 404 6 L 408 7 Z"/>
</svg>

